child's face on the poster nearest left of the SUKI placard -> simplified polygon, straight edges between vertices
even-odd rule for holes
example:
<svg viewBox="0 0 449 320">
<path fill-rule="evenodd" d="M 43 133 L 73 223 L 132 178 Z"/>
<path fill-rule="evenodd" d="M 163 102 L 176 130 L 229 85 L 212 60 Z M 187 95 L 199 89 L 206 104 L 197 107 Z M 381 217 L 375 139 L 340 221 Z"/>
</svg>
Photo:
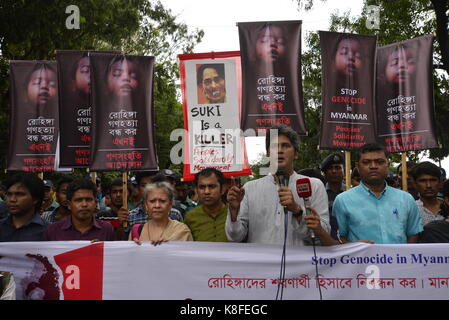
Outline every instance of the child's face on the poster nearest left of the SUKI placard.
<svg viewBox="0 0 449 320">
<path fill-rule="evenodd" d="M 128 97 L 137 89 L 139 81 L 134 63 L 128 60 L 117 61 L 108 74 L 108 88 L 118 97 Z"/>
</svg>

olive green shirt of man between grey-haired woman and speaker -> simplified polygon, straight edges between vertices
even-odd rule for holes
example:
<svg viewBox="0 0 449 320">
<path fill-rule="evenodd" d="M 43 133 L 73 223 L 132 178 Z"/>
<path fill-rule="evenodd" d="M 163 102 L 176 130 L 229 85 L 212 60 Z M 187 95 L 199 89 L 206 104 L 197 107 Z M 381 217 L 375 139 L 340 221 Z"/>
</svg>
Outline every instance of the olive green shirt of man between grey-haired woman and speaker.
<svg viewBox="0 0 449 320">
<path fill-rule="evenodd" d="M 223 206 L 216 216 L 208 214 L 201 205 L 186 214 L 184 223 L 192 231 L 194 241 L 227 242 L 225 232 L 227 214 L 228 205 Z"/>
</svg>

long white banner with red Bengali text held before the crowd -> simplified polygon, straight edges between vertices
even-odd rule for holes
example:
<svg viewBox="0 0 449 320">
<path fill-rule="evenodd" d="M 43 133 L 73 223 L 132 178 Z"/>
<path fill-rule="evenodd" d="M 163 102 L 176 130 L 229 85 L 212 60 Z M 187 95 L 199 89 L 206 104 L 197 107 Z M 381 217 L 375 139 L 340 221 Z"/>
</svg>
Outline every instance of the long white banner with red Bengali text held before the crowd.
<svg viewBox="0 0 449 320">
<path fill-rule="evenodd" d="M 17 299 L 448 299 L 449 244 L 282 247 L 244 243 L 0 244 Z M 318 268 L 318 276 L 316 274 Z"/>
</svg>

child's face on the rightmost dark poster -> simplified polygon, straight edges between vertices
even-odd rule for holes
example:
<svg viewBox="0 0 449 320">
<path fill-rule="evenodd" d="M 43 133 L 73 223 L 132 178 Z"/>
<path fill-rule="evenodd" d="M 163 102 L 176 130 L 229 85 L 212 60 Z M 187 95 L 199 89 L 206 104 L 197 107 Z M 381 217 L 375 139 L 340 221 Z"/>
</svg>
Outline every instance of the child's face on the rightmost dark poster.
<svg viewBox="0 0 449 320">
<path fill-rule="evenodd" d="M 399 48 L 388 57 L 385 77 L 389 82 L 405 82 L 416 71 L 415 56 L 409 48 Z"/>
</svg>

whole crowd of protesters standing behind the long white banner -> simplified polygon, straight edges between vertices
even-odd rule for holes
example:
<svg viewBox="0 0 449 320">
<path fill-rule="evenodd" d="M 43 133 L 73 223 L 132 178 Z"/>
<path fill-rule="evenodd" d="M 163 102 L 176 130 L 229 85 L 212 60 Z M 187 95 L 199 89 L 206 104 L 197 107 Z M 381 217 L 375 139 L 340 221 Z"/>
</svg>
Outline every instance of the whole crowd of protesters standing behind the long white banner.
<svg viewBox="0 0 449 320">
<path fill-rule="evenodd" d="M 292 245 L 307 245 L 314 236 L 321 245 L 449 242 L 449 181 L 443 168 L 408 162 L 405 192 L 401 167 L 391 173 L 389 154 L 369 144 L 359 150 L 350 181 L 341 153 L 330 154 L 319 168 L 295 172 L 298 136 L 287 126 L 276 129 L 277 140 L 267 135 L 266 150 L 281 171 L 244 186 L 213 168 L 198 172 L 193 182 L 163 169 L 135 172 L 127 184 L 116 179 L 102 186 L 100 196 L 99 181 L 88 178 L 67 174 L 50 181 L 10 174 L 0 187 L 0 241 L 279 244 L 286 223 Z M 287 185 L 279 172 L 290 178 Z M 305 177 L 312 188 L 308 207 L 295 185 Z"/>
</svg>

